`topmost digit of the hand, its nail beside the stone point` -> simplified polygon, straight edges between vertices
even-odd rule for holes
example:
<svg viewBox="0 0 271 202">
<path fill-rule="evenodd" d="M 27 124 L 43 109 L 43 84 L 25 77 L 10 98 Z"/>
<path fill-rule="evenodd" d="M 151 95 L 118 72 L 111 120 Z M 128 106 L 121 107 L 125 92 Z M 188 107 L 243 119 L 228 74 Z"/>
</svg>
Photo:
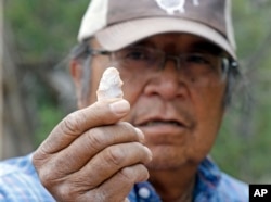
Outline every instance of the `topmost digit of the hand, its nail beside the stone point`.
<svg viewBox="0 0 271 202">
<path fill-rule="evenodd" d="M 100 101 L 66 116 L 40 146 L 47 154 L 66 148 L 86 130 L 111 125 L 121 119 L 130 110 L 126 100 Z"/>
</svg>

